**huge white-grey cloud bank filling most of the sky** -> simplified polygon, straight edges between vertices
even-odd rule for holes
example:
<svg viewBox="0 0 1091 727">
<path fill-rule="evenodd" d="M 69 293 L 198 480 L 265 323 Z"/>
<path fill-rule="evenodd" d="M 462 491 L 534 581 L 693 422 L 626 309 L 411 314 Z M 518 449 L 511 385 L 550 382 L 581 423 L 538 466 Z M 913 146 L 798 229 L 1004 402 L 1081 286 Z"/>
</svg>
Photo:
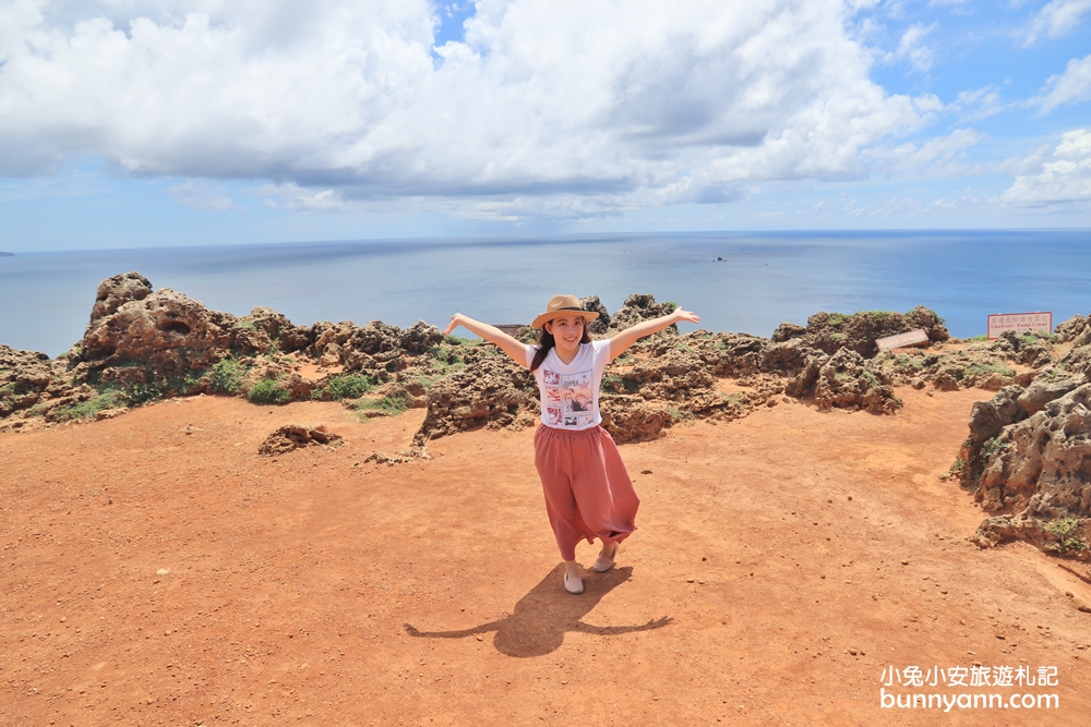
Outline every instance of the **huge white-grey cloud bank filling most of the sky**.
<svg viewBox="0 0 1091 727">
<path fill-rule="evenodd" d="M 860 177 L 862 150 L 935 111 L 871 81 L 847 26 L 873 4 L 479 0 L 465 38 L 435 46 L 427 0 L 10 0 L 0 174 L 93 155 L 265 180 L 293 209 L 484 216 Z M 930 31 L 899 47 L 916 68 Z"/>
</svg>

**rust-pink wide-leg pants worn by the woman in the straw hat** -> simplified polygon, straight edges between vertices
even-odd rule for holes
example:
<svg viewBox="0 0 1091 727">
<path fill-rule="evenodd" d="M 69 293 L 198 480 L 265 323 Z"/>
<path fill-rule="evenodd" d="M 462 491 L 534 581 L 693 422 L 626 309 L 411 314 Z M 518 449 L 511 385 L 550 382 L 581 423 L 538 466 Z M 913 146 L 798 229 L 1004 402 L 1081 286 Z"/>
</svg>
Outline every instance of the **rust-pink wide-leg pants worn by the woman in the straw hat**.
<svg viewBox="0 0 1091 727">
<path fill-rule="evenodd" d="M 576 543 L 621 542 L 636 530 L 640 500 L 613 437 L 600 426 L 568 432 L 538 425 L 535 467 L 546 494 L 546 511 L 564 560 L 576 559 Z"/>
</svg>

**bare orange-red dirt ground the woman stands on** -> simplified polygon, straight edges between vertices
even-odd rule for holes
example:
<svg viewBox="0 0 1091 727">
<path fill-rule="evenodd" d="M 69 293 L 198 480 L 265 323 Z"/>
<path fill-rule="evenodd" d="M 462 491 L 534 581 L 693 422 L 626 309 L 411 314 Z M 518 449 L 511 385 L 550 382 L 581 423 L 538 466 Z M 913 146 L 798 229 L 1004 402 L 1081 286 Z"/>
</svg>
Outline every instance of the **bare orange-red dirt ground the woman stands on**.
<svg viewBox="0 0 1091 727">
<path fill-rule="evenodd" d="M 991 392 L 899 396 L 622 447 L 639 531 L 580 596 L 529 429 L 376 465 L 422 411 L 195 397 L 0 435 L 0 724 L 1087 725 L 1091 587 L 970 545 L 938 480 Z M 289 423 L 348 444 L 257 456 Z M 885 668 L 974 663 L 1058 683 L 884 688 L 1059 706 L 880 706 Z"/>
</svg>

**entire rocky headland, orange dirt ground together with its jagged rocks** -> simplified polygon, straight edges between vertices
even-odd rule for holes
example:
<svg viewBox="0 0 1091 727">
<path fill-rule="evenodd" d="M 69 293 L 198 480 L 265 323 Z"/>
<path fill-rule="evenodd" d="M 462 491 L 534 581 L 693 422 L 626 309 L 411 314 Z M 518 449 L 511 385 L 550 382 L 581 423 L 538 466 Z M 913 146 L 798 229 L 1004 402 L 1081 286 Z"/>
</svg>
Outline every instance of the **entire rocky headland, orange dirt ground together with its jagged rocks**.
<svg viewBox="0 0 1091 727">
<path fill-rule="evenodd" d="M 0 724 L 931 725 L 879 690 L 938 666 L 1056 669 L 952 724 L 1083 725 L 1089 368 L 1081 316 L 664 330 L 607 369 L 639 530 L 574 597 L 494 347 L 117 276 L 68 354 L 0 347 Z"/>
</svg>

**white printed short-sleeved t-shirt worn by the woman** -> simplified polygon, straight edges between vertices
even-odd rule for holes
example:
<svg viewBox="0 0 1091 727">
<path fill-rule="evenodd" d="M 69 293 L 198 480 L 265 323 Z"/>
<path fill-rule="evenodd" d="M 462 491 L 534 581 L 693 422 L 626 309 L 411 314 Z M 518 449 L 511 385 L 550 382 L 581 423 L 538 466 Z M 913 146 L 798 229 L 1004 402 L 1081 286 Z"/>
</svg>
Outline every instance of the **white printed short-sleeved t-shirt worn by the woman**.
<svg viewBox="0 0 1091 727">
<path fill-rule="evenodd" d="M 527 367 L 537 346 L 527 346 Z M 572 363 L 564 363 L 550 349 L 546 361 L 533 372 L 542 402 L 542 424 L 554 429 L 589 429 L 602 422 L 599 385 L 610 363 L 610 339 L 580 343 Z"/>
</svg>

